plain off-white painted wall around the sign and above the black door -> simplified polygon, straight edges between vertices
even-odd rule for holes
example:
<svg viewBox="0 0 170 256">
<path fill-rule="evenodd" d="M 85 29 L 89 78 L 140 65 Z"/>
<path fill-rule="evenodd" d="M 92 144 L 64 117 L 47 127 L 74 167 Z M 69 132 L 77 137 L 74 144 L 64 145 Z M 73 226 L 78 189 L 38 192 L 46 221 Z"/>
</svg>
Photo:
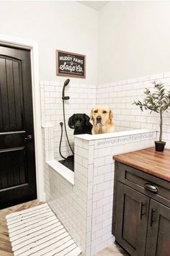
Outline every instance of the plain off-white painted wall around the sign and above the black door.
<svg viewBox="0 0 170 256">
<path fill-rule="evenodd" d="M 0 33 L 39 43 L 40 80 L 56 77 L 55 50 L 86 55 L 86 79 L 97 82 L 97 12 L 76 1 L 0 1 Z"/>
</svg>

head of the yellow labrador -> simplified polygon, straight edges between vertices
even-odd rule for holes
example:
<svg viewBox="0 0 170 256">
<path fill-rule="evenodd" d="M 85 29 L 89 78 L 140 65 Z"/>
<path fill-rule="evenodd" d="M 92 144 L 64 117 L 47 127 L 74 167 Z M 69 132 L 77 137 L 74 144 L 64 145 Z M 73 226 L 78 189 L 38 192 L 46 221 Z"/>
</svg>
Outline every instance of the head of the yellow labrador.
<svg viewBox="0 0 170 256">
<path fill-rule="evenodd" d="M 90 118 L 95 125 L 105 125 L 112 121 L 113 113 L 108 106 L 95 106 L 91 109 Z"/>
</svg>

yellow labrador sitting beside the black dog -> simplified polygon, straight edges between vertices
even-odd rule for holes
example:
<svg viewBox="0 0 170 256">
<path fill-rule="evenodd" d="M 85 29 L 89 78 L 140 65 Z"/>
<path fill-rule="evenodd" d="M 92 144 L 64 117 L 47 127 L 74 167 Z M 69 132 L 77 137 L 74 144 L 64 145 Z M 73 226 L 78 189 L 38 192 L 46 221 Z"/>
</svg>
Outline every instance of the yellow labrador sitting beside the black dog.
<svg viewBox="0 0 170 256">
<path fill-rule="evenodd" d="M 115 132 L 115 124 L 112 122 L 113 112 L 109 106 L 99 105 L 92 108 L 90 119 L 93 121 L 93 135 Z"/>
</svg>

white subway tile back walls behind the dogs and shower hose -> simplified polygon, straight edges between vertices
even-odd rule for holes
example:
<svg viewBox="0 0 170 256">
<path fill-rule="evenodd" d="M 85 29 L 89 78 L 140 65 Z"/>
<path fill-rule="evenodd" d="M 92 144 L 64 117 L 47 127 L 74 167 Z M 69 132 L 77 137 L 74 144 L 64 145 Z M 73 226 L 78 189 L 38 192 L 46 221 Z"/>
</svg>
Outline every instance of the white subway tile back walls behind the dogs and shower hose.
<svg viewBox="0 0 170 256">
<path fill-rule="evenodd" d="M 145 88 L 153 88 L 152 82 L 164 82 L 166 89 L 170 90 L 169 72 L 154 74 L 150 77 L 139 77 L 128 81 L 118 81 L 104 85 L 79 85 L 70 84 L 66 87 L 66 95 L 70 96 L 69 101 L 65 101 L 66 126 L 71 146 L 73 147 L 73 129 L 67 125 L 68 118 L 74 113 L 85 113 L 89 115 L 91 108 L 96 104 L 109 105 L 114 111 L 114 122 L 116 131 L 128 129 L 159 129 L 158 114 L 150 111 L 140 111 L 140 108 L 133 105 L 134 101 L 143 99 Z M 58 151 L 61 127 L 63 121 L 62 105 L 63 83 L 40 81 L 42 124 L 52 124 L 54 127 L 54 157 L 61 159 Z M 166 140 L 166 147 L 170 147 L 170 111 L 164 113 L 163 140 Z M 71 150 L 63 132 L 63 142 L 61 144 L 63 155 L 71 155 Z"/>
</svg>

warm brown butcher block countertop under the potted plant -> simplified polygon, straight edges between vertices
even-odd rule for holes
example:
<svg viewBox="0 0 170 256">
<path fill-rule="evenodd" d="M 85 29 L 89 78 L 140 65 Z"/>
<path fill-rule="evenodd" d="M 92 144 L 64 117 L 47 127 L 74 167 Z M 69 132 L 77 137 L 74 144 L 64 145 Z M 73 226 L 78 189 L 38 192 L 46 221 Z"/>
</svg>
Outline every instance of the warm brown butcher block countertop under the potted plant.
<svg viewBox="0 0 170 256">
<path fill-rule="evenodd" d="M 164 152 L 157 152 L 155 148 L 145 148 L 143 150 L 115 155 L 113 159 L 170 182 L 169 149 L 165 149 Z"/>
</svg>

